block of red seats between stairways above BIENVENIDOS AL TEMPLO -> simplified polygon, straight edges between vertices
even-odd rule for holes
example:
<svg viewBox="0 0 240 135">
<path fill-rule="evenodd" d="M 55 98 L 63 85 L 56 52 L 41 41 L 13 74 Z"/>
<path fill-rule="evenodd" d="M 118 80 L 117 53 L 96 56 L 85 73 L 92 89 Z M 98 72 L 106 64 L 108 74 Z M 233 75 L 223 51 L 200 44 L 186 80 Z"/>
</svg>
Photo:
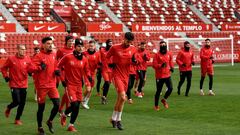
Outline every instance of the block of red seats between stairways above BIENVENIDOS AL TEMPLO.
<svg viewBox="0 0 240 135">
<path fill-rule="evenodd" d="M 202 23 L 181 0 L 108 0 L 108 7 L 128 27 L 132 23 Z"/>
</svg>

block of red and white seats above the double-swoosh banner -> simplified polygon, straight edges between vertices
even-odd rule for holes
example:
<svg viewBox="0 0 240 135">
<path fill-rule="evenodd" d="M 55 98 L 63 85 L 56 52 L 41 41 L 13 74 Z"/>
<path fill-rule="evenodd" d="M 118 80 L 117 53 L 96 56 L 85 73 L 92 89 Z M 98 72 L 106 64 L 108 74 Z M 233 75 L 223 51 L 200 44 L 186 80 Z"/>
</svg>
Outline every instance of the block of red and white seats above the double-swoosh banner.
<svg viewBox="0 0 240 135">
<path fill-rule="evenodd" d="M 27 29 L 28 23 L 51 23 L 50 10 L 55 6 L 73 7 L 87 23 L 112 22 L 95 1 L 3 1 L 9 12 Z"/>
</svg>

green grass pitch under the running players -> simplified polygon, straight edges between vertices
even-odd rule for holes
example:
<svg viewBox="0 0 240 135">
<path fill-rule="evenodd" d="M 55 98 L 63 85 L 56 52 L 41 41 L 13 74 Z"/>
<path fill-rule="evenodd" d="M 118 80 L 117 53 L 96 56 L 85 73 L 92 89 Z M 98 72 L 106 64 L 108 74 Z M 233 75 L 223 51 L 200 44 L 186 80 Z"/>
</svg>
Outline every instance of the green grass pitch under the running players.
<svg viewBox="0 0 240 135">
<path fill-rule="evenodd" d="M 67 127 L 60 125 L 60 117 L 54 120 L 56 135 L 237 135 L 240 134 L 240 64 L 235 66 L 215 67 L 214 92 L 216 96 L 199 95 L 200 69 L 193 69 L 190 97 L 185 97 L 186 82 L 180 96 L 176 93 L 179 80 L 178 69 L 172 75 L 173 93 L 168 99 L 169 109 L 160 104 L 160 111 L 154 111 L 155 78 L 152 68 L 147 72 L 144 88 L 145 96 L 139 99 L 133 96 L 134 104 L 125 104 L 122 116 L 123 131 L 113 129 L 109 123 L 116 98 L 111 86 L 108 104 L 102 105 L 94 89 L 90 99 L 90 110 L 80 109 L 75 127 L 78 132 L 69 133 Z M 165 88 L 163 89 L 165 91 Z M 60 93 L 63 88 L 59 88 Z M 204 91 L 208 92 L 208 78 L 204 82 Z M 4 79 L 0 79 L 0 134 L 1 135 L 35 135 L 37 134 L 36 112 L 33 83 L 30 79 L 27 103 L 22 116 L 23 125 L 13 124 L 16 109 L 9 118 L 4 110 L 11 101 L 10 90 Z M 43 126 L 46 134 L 51 134 L 45 124 L 48 119 L 51 102 L 46 101 Z M 69 118 L 67 119 L 69 122 Z"/>
</svg>

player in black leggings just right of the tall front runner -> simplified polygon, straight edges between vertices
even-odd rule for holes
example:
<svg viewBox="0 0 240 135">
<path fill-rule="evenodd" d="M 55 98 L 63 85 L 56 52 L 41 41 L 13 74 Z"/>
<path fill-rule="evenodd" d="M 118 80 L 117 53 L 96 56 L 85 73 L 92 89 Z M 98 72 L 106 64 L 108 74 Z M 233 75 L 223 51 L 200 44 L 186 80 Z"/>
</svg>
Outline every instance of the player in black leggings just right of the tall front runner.
<svg viewBox="0 0 240 135">
<path fill-rule="evenodd" d="M 144 80 L 145 80 L 146 71 L 147 71 L 147 61 L 150 60 L 150 53 L 145 48 L 146 48 L 146 42 L 141 42 L 138 46 L 138 51 L 136 52 L 136 56 L 140 58 L 139 59 L 140 62 L 137 64 L 137 74 L 139 78 L 139 84 L 138 84 L 137 93 L 136 93 L 136 95 L 139 98 L 143 97 L 142 88 L 144 85 Z"/>
</svg>

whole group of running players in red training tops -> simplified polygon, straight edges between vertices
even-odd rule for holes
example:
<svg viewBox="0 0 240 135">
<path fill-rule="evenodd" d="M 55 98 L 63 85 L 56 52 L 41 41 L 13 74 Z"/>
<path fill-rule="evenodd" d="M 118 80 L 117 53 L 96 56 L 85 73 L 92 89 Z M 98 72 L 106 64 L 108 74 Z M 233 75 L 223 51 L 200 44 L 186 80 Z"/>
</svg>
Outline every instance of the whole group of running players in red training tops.
<svg viewBox="0 0 240 135">
<path fill-rule="evenodd" d="M 104 79 L 102 104 L 107 104 L 107 94 L 110 84 L 113 83 L 117 92 L 116 103 L 110 122 L 114 128 L 123 129 L 121 116 L 126 98 L 132 104 L 131 89 L 134 86 L 135 95 L 139 98 L 144 96 L 143 86 L 146 80 L 147 62 L 151 55 L 146 50 L 146 42 L 141 42 L 137 47 L 133 46 L 134 35 L 127 32 L 122 43 L 113 45 L 113 41 L 108 39 L 105 47 L 96 50 L 96 42 L 91 40 L 85 49 L 84 42 L 80 38 L 71 35 L 66 36 L 65 46 L 53 51 L 53 39 L 45 37 L 42 39 L 42 46 L 36 47 L 32 58 L 25 55 L 26 46 L 17 45 L 17 53 L 10 56 L 1 68 L 1 72 L 6 82 L 11 88 L 12 102 L 6 107 L 5 116 L 9 117 L 11 109 L 18 106 L 15 118 L 16 125 L 22 125 L 20 117 L 26 102 L 28 76 L 33 77 L 38 102 L 37 123 L 38 133 L 44 135 L 42 127 L 43 112 L 45 109 L 46 95 L 52 101 L 53 108 L 46 124 L 49 131 L 54 133 L 53 119 L 59 112 L 61 114 L 61 125 L 66 125 L 66 117 L 70 115 L 68 131 L 76 131 L 74 122 L 77 119 L 79 107 L 82 105 L 89 109 L 88 102 L 92 89 L 95 85 L 97 74 L 97 92 L 100 94 L 100 80 Z M 213 51 L 210 47 L 210 39 L 205 40 L 206 45 L 200 51 L 201 58 L 201 81 L 200 94 L 205 75 L 209 75 L 209 95 L 215 95 L 212 91 L 213 84 Z M 192 78 L 192 65 L 195 64 L 190 43 L 184 42 L 184 47 L 179 51 L 176 62 L 179 65 L 180 81 L 178 84 L 178 95 L 181 86 L 187 78 L 187 88 L 185 96 L 189 95 Z M 171 95 L 173 86 L 171 72 L 174 71 L 172 53 L 168 51 L 165 41 L 160 41 L 159 52 L 153 57 L 152 66 L 155 69 L 156 93 L 154 109 L 159 110 L 159 98 L 163 84 L 167 86 L 167 91 L 161 100 L 165 108 L 168 108 L 167 98 Z M 62 83 L 64 94 L 60 103 L 58 85 Z M 83 91 L 83 85 L 85 90 Z M 66 108 L 64 110 L 64 105 Z M 64 110 L 64 111 L 63 111 Z"/>
</svg>

